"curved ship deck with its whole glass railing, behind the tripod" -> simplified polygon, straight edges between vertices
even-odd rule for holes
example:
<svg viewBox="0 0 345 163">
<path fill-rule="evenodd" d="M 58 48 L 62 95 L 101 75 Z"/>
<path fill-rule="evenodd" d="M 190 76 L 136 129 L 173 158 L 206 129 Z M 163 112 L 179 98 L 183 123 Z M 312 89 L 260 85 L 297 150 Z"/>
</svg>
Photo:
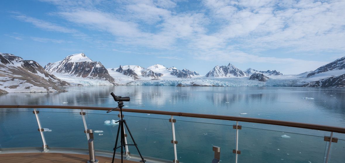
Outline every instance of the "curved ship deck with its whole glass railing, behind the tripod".
<svg viewBox="0 0 345 163">
<path fill-rule="evenodd" d="M 99 163 L 112 161 L 118 126 L 105 122 L 119 120 L 120 115 L 104 114 L 104 110 L 113 108 L 0 108 L 0 162 L 92 162 L 92 153 Z M 345 162 L 344 127 L 159 110 L 122 111 L 147 163 Z M 91 139 L 92 148 L 88 147 Z M 133 143 L 130 137 L 125 142 Z M 125 148 L 125 163 L 141 160 L 132 147 Z M 120 157 L 116 152 L 115 162 L 121 162 Z"/>
</svg>

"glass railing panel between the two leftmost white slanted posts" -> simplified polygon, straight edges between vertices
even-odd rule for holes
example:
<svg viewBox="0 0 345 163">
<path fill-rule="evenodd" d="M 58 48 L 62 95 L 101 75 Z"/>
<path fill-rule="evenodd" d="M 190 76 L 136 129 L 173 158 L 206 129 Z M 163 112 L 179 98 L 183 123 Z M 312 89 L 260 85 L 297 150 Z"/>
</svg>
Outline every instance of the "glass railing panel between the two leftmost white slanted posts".
<svg viewBox="0 0 345 163">
<path fill-rule="evenodd" d="M 88 148 L 81 115 L 72 112 L 44 112 L 39 118 L 48 147 Z M 49 130 L 48 130 L 49 129 Z"/>
</svg>

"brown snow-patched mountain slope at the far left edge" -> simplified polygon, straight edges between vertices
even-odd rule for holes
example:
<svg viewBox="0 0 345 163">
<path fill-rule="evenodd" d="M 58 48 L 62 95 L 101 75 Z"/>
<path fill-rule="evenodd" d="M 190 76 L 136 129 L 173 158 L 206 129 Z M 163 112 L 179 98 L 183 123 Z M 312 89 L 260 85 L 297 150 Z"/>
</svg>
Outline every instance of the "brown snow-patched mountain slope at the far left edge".
<svg viewBox="0 0 345 163">
<path fill-rule="evenodd" d="M 0 53 L 0 93 L 63 92 L 65 90 L 58 86 L 68 85 L 48 73 L 36 61 Z"/>
</svg>

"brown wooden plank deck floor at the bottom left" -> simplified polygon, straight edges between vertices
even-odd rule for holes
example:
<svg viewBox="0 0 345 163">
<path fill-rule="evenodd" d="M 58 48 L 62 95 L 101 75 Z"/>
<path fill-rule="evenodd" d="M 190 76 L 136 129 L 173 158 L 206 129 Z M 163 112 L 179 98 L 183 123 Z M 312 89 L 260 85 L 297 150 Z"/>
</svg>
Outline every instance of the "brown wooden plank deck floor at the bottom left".
<svg viewBox="0 0 345 163">
<path fill-rule="evenodd" d="M 89 155 L 68 153 L 10 153 L 0 154 L 3 163 L 87 163 Z M 98 163 L 111 163 L 112 158 L 96 156 Z M 116 163 L 121 160 L 115 159 Z M 124 160 L 124 163 L 138 163 Z"/>
</svg>

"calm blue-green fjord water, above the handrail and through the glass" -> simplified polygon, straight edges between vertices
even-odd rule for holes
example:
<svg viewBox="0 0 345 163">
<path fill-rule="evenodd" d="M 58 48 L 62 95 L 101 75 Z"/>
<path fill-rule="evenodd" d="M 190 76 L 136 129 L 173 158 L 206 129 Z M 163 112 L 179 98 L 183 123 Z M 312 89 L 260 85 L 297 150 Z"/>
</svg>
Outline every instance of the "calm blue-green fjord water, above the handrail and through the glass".
<svg viewBox="0 0 345 163">
<path fill-rule="evenodd" d="M 345 90 L 280 87 L 176 87 L 111 86 L 69 87 L 63 93 L 8 93 L 0 95 L 1 105 L 78 105 L 116 107 L 110 96 L 130 96 L 124 108 L 165 110 L 201 114 L 277 119 L 345 127 Z M 314 98 L 304 99 L 305 97 Z M 87 148 L 80 110 L 39 109 L 41 124 L 50 147 Z M 0 148 L 39 147 L 41 138 L 31 109 L 0 110 Z M 21 111 L 21 112 L 17 112 Z M 52 113 L 54 112 L 54 113 Z M 58 113 L 57 113 L 58 112 Z M 76 112 L 76 113 L 70 113 Z M 118 113 L 86 111 L 88 128 L 96 134 L 96 149 L 112 150 Z M 247 113 L 247 114 L 241 114 Z M 161 159 L 174 159 L 170 116 L 125 113 L 125 119 L 141 153 Z M 181 162 L 210 162 L 212 145 L 221 147 L 221 160 L 233 162 L 235 149 L 234 121 L 175 117 L 178 159 Z M 240 162 L 323 162 L 329 132 L 242 123 L 239 130 Z M 36 131 L 35 131 L 36 130 Z M 302 135 L 304 134 L 304 135 Z M 287 135 L 290 138 L 282 138 Z M 336 134 L 340 139 L 344 135 Z M 30 139 L 31 141 L 27 141 Z M 129 141 L 131 142 L 131 141 Z M 332 143 L 333 144 L 333 143 Z M 331 148 L 331 161 L 345 160 L 345 141 Z M 278 150 L 279 149 L 279 150 Z M 136 153 L 130 148 L 131 153 Z M 343 153 L 343 154 L 341 154 Z"/>
</svg>

